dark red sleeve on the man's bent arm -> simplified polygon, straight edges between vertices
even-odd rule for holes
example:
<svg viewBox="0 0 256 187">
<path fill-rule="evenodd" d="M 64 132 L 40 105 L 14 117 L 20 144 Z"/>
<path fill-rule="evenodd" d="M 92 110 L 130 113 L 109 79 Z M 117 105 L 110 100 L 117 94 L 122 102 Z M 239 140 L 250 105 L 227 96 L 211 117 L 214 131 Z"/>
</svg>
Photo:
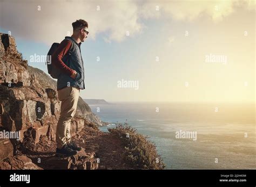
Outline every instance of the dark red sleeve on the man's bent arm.
<svg viewBox="0 0 256 187">
<path fill-rule="evenodd" d="M 57 50 L 52 54 L 52 64 L 53 66 L 57 67 L 63 73 L 68 74 L 71 76 L 73 74 L 73 70 L 66 66 L 66 64 L 62 61 L 63 56 L 68 53 L 69 49 L 71 48 L 71 41 L 63 40 Z"/>
</svg>

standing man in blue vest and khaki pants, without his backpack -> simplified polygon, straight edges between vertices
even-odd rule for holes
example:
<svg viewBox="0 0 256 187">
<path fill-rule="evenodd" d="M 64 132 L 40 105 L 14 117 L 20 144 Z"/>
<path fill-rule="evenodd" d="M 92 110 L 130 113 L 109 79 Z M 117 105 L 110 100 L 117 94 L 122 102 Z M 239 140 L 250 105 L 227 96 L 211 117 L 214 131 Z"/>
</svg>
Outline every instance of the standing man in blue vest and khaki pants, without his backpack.
<svg viewBox="0 0 256 187">
<path fill-rule="evenodd" d="M 73 34 L 65 37 L 52 54 L 52 64 L 61 70 L 57 81 L 58 98 L 62 102 L 56 130 L 57 155 L 71 156 L 82 148 L 71 141 L 70 123 L 77 109 L 80 89 L 84 89 L 84 62 L 80 45 L 87 38 L 88 24 L 79 19 L 72 23 Z"/>
</svg>

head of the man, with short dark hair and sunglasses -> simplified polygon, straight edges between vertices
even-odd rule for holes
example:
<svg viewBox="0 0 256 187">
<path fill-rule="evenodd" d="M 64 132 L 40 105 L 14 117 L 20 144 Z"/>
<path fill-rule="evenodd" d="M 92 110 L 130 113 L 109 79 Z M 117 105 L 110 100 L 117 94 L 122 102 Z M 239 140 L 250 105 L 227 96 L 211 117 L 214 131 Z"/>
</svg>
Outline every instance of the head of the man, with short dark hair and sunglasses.
<svg viewBox="0 0 256 187">
<path fill-rule="evenodd" d="M 75 34 L 82 42 L 84 42 L 87 38 L 87 35 L 89 34 L 89 32 L 87 31 L 88 23 L 83 19 L 79 19 L 73 22 L 72 26 L 73 34 Z"/>
</svg>

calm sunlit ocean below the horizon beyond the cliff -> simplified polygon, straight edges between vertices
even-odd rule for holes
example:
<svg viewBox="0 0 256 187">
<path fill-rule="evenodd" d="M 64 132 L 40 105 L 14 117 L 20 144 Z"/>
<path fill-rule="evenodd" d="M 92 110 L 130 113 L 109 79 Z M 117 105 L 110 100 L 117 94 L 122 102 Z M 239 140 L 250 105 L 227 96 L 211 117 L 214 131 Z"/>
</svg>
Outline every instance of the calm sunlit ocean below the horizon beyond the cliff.
<svg viewBox="0 0 256 187">
<path fill-rule="evenodd" d="M 165 169 L 256 169 L 255 104 L 116 103 L 90 105 L 100 127 L 127 123 L 150 136 Z"/>
</svg>

